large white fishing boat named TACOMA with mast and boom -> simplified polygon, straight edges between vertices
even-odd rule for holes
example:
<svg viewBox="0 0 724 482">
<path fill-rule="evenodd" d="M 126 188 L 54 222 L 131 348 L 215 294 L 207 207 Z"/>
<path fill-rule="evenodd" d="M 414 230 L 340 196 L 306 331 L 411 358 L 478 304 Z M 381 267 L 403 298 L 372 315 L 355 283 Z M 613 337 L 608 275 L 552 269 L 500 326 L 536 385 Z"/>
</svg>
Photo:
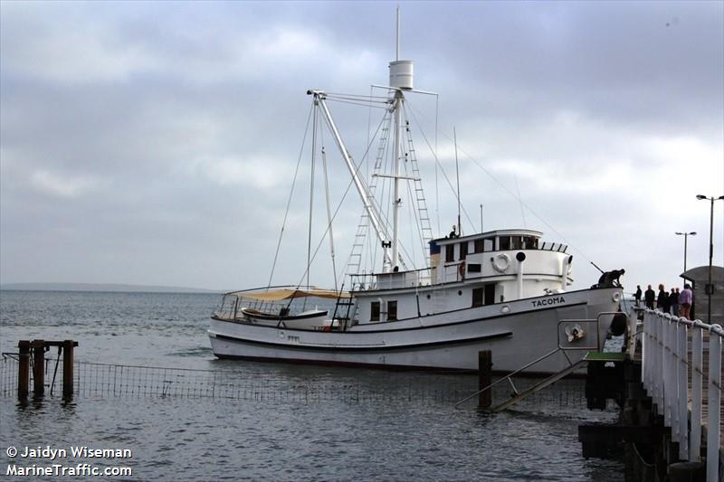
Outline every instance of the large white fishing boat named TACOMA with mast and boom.
<svg viewBox="0 0 724 482">
<path fill-rule="evenodd" d="M 331 116 L 327 101 L 333 95 L 308 92 L 315 109 L 314 127 L 319 115 L 364 206 L 364 222 L 355 238 L 357 253 L 353 249 L 348 266 L 359 268 L 362 228 L 367 227 L 375 236 L 368 238 L 381 247 L 380 269 L 371 274 L 348 271 L 346 291 L 292 287 L 227 293 L 208 330 L 214 355 L 313 364 L 476 369 L 478 353 L 491 350 L 495 372 L 518 370 L 538 360 L 525 372 L 543 374 L 557 373 L 580 359 L 586 349 L 599 348 L 614 313 L 620 311 L 623 289 L 611 276 L 604 276 L 594 287 L 568 290 L 573 282 L 573 256 L 567 246 L 543 241 L 541 232 L 507 229 L 463 236 L 457 228 L 447 237 L 431 239 L 424 197 L 416 194 L 415 222 L 429 251 L 424 268 L 408 267 L 411 261 L 403 257 L 406 251 L 399 236 L 401 184 L 412 185 L 415 193 L 422 191 L 414 147 L 406 137 L 410 126 L 403 118 L 405 94 L 415 92 L 413 64 L 396 60 L 389 69 L 389 84 L 384 89 L 388 93 L 388 131 L 393 137 L 391 169 L 388 173 L 375 171 L 369 180 L 362 179 Z M 386 142 L 385 135 L 381 137 L 380 146 Z M 312 146 L 315 148 L 314 142 Z M 379 148 L 379 152 L 384 150 Z M 404 173 L 408 165 L 411 169 Z M 375 197 L 380 179 L 389 182 L 388 192 L 394 193 L 391 220 L 381 214 L 384 210 Z M 329 237 L 332 239 L 331 232 Z M 257 303 L 284 300 L 288 304 L 242 307 L 240 300 L 245 296 Z M 334 306 L 331 316 L 322 315 L 324 310 L 291 310 L 290 300 L 306 301 L 314 296 L 329 300 Z M 256 312 L 251 311 L 254 309 Z"/>
</svg>

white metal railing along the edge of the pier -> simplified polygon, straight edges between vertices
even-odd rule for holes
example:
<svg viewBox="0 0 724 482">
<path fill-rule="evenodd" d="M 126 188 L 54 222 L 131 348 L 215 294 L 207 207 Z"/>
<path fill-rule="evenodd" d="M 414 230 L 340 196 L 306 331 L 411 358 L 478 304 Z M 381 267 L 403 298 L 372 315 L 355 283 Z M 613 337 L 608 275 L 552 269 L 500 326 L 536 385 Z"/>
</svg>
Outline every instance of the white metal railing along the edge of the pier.
<svg viewBox="0 0 724 482">
<path fill-rule="evenodd" d="M 679 443 L 682 460 L 700 461 L 703 379 L 706 376 L 709 409 L 706 421 L 707 480 L 718 480 L 724 330 L 719 325 L 708 325 L 700 320 L 672 317 L 648 308 L 637 309 L 643 311 L 643 386 L 663 411 L 664 424 L 672 429 L 672 440 Z M 704 368 L 707 351 L 704 338 L 708 338 L 708 370 Z"/>
</svg>

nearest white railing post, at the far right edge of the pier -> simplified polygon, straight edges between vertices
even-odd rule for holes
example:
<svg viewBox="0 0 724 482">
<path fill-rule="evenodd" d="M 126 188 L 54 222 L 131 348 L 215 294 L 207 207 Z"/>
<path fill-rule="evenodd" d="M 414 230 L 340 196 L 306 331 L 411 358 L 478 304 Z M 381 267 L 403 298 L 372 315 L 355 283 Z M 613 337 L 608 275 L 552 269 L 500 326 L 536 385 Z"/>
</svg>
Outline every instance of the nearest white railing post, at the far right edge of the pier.
<svg viewBox="0 0 724 482">
<path fill-rule="evenodd" d="M 719 417 L 721 411 L 721 326 L 709 329 L 709 422 L 707 423 L 707 481 L 719 480 Z"/>
</svg>

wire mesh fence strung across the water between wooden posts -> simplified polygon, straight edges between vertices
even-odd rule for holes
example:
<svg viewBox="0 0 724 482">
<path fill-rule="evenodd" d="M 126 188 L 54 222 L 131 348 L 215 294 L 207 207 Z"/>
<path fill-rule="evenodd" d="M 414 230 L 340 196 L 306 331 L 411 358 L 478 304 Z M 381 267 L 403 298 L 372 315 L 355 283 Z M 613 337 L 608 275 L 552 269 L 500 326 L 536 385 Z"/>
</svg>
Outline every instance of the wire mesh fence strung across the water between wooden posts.
<svg viewBox="0 0 724 482">
<path fill-rule="evenodd" d="M 46 360 L 45 396 L 62 394 L 62 363 Z M 33 370 L 31 370 L 31 391 Z M 0 396 L 17 395 L 18 361 L 5 354 L 0 360 Z M 531 381 L 532 383 L 532 381 Z M 477 377 L 461 373 L 391 373 L 354 377 L 310 374 L 248 373 L 125 364 L 75 362 L 73 394 L 79 398 L 186 397 L 256 402 L 321 403 L 444 402 L 453 404 L 477 391 Z M 519 382 L 517 382 L 519 385 Z M 523 382 L 525 385 L 525 382 Z M 501 386 L 495 397 L 510 395 Z M 532 403 L 585 406 L 581 381 L 563 381 L 558 390 L 539 392 Z"/>
</svg>

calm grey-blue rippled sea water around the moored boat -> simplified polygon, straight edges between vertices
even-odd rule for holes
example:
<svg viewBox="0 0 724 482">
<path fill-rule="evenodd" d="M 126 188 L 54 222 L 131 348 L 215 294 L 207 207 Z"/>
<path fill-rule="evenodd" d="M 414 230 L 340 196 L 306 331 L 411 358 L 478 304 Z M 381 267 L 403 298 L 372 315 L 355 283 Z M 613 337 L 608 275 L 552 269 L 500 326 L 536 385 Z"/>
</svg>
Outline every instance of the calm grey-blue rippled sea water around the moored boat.
<svg viewBox="0 0 724 482">
<path fill-rule="evenodd" d="M 14 396 L 0 396 L 3 475 L 14 461 L 6 455 L 10 446 L 89 446 L 131 449 L 132 458 L 34 463 L 133 468 L 132 477 L 117 480 L 624 478 L 621 464 L 580 455 L 577 425 L 615 418 L 613 410 L 586 410 L 581 381 L 558 383 L 515 411 L 485 415 L 473 406 L 453 408 L 461 392 L 474 389 L 473 377 L 222 362 L 205 336 L 216 302 L 214 295 L 0 292 L 3 352 L 16 352 L 19 339 L 71 338 L 79 341 L 82 362 L 224 371 L 267 387 L 262 398 L 235 400 L 46 397 L 22 407 Z M 383 396 L 284 396 L 300 386 Z"/>
</svg>

